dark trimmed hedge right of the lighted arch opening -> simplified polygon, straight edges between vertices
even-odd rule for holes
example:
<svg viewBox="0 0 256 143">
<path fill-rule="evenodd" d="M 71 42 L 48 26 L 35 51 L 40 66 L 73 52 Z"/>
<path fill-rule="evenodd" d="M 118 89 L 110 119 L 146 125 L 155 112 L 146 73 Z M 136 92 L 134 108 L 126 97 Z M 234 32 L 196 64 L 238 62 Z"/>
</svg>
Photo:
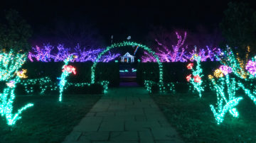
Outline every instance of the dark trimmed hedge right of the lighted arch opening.
<svg viewBox="0 0 256 143">
<path fill-rule="evenodd" d="M 186 66 L 188 62 L 164 62 L 164 83 L 178 82 L 186 83 L 186 76 L 191 74 L 192 71 L 188 70 Z M 213 71 L 220 66 L 218 62 L 201 62 L 201 68 L 203 69 L 203 80 L 207 80 L 208 74 L 213 74 Z M 194 62 L 196 67 L 196 62 Z M 144 81 L 159 81 L 159 65 L 156 62 L 140 62 L 137 65 L 137 83 L 144 84 Z"/>
</svg>

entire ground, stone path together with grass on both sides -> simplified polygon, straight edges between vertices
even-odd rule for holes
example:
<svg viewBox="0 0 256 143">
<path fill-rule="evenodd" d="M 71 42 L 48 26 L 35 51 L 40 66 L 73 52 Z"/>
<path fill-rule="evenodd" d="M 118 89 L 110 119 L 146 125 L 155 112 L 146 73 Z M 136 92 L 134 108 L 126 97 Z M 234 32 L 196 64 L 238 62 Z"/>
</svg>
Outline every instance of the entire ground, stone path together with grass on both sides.
<svg viewBox="0 0 256 143">
<path fill-rule="evenodd" d="M 14 110 L 28 102 L 35 106 L 14 127 L 1 118 L 0 142 L 256 142 L 250 98 L 243 96 L 238 105 L 239 118 L 227 114 L 220 125 L 209 107 L 215 98 L 149 94 L 142 87 L 110 88 L 103 96 L 64 95 L 63 103 L 58 96 L 18 96 Z"/>
</svg>

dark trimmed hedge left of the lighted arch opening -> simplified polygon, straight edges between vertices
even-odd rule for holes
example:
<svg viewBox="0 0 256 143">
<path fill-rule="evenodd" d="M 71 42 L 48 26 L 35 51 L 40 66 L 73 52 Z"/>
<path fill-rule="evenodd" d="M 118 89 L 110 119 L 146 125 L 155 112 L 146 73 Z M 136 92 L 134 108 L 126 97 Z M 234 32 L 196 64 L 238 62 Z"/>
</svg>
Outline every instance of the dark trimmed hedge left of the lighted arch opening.
<svg viewBox="0 0 256 143">
<path fill-rule="evenodd" d="M 91 80 L 92 62 L 70 62 L 77 74 L 70 74 L 68 82 L 84 83 Z M 63 62 L 26 62 L 23 69 L 28 69 L 28 79 L 49 76 L 55 82 L 62 74 Z M 110 81 L 110 86 L 119 86 L 119 64 L 115 62 L 99 62 L 95 69 L 95 81 Z"/>
</svg>

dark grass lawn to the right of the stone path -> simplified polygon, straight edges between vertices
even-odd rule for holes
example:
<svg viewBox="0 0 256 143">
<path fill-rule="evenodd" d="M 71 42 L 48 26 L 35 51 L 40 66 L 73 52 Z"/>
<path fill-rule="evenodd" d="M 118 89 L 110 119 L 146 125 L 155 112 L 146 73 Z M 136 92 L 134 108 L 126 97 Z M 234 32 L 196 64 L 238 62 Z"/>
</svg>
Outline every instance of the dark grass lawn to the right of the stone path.
<svg viewBox="0 0 256 143">
<path fill-rule="evenodd" d="M 237 106 L 239 118 L 225 115 L 217 125 L 210 110 L 215 93 L 152 96 L 184 142 L 256 142 L 256 105 L 247 96 Z"/>
</svg>

